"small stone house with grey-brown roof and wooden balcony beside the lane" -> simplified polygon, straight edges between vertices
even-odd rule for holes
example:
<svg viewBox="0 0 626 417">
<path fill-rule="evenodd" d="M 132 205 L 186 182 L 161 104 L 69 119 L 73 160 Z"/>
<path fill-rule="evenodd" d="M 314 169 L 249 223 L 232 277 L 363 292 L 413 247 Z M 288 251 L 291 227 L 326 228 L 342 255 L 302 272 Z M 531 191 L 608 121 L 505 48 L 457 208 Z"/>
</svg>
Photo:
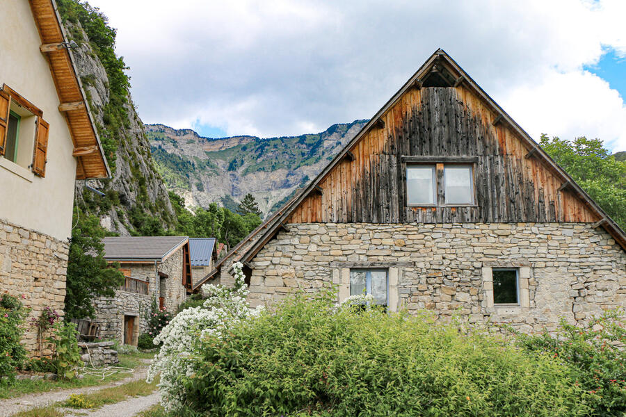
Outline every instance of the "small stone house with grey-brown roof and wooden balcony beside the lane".
<svg viewBox="0 0 626 417">
<path fill-rule="evenodd" d="M 152 303 L 176 311 L 191 291 L 189 238 L 186 236 L 121 236 L 104 238 L 104 259 L 120 263 L 125 275 L 115 297 L 94 300 L 100 338 L 137 345 L 146 332 L 145 313 Z"/>
</svg>

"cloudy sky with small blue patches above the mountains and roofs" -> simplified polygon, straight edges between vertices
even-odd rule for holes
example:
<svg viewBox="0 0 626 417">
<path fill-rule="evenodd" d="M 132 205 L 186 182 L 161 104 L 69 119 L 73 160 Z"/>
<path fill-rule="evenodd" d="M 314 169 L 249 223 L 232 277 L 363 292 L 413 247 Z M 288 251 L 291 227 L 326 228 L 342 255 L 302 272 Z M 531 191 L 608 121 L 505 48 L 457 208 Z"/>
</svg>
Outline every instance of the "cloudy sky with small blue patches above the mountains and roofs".
<svg viewBox="0 0 626 417">
<path fill-rule="evenodd" d="M 369 118 L 441 47 L 533 138 L 626 150 L 624 0 L 90 0 L 145 123 L 204 136 Z"/>
</svg>

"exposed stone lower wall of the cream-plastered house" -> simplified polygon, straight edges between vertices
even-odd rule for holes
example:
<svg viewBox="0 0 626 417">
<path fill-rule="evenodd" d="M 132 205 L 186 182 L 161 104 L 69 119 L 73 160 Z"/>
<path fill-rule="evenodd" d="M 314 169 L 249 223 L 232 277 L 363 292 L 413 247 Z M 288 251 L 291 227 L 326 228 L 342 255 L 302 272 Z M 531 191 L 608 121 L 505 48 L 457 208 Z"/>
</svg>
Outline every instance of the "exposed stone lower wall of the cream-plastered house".
<svg viewBox="0 0 626 417">
<path fill-rule="evenodd" d="M 67 242 L 0 219 L 0 293 L 23 296 L 31 308 L 27 320 L 38 318 L 46 306 L 63 315 L 69 249 Z M 37 332 L 24 328 L 22 340 L 31 355 L 51 353 L 39 352 Z"/>
</svg>

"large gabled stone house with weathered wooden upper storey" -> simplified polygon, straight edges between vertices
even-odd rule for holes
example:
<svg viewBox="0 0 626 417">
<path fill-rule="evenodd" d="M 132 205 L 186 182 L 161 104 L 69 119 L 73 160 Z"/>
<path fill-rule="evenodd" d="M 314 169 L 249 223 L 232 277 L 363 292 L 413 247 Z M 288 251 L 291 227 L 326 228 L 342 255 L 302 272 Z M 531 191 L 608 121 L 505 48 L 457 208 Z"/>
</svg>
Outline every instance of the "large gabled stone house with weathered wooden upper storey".
<svg viewBox="0 0 626 417">
<path fill-rule="evenodd" d="M 250 303 L 332 285 L 524 332 L 626 305 L 626 235 L 439 49 L 204 281 Z M 203 281 L 195 282 L 198 290 Z"/>
</svg>

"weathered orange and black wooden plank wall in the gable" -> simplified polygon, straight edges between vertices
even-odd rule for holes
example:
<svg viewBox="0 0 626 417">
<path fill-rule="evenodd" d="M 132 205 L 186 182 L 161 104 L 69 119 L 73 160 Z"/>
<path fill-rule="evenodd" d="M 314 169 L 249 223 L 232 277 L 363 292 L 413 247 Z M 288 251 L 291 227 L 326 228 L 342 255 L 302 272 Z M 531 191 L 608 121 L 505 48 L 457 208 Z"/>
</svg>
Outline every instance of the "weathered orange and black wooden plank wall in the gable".
<svg viewBox="0 0 626 417">
<path fill-rule="evenodd" d="M 506 123 L 459 85 L 406 92 L 288 222 L 595 222 L 599 218 Z M 476 206 L 407 207 L 402 156 L 477 157 Z"/>
</svg>

